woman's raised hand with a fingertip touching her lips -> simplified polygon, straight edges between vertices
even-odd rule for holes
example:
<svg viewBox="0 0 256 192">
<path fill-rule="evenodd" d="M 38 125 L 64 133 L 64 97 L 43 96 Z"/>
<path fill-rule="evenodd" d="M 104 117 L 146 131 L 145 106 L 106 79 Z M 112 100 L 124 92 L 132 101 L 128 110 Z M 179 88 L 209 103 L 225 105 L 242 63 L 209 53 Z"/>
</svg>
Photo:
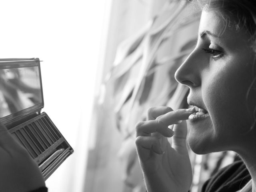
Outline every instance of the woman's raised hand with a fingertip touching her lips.
<svg viewBox="0 0 256 192">
<path fill-rule="evenodd" d="M 136 148 L 148 192 L 188 192 L 192 169 L 186 147 L 188 116 L 195 112 L 150 108 L 148 121 L 136 125 Z M 168 128 L 174 125 L 173 131 Z M 172 137 L 172 145 L 167 137 Z"/>
</svg>

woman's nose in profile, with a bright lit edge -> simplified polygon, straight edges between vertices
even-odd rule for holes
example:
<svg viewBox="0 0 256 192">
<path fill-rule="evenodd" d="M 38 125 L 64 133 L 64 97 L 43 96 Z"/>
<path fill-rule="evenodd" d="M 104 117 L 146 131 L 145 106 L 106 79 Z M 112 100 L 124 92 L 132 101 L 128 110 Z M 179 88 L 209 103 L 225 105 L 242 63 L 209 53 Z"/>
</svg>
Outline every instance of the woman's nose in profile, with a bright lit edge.
<svg viewBox="0 0 256 192">
<path fill-rule="evenodd" d="M 194 50 L 175 72 L 175 79 L 189 88 L 200 86 L 200 66 L 202 61 Z"/>
</svg>

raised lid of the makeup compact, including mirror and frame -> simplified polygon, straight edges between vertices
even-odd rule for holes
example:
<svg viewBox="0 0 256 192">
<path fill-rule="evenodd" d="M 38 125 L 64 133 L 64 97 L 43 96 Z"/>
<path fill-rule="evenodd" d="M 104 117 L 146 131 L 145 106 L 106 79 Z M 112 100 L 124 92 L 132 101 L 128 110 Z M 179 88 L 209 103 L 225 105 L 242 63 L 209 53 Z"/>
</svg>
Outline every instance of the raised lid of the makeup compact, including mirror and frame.
<svg viewBox="0 0 256 192">
<path fill-rule="evenodd" d="M 40 60 L 0 59 L 0 120 L 4 124 L 44 107 Z"/>
</svg>

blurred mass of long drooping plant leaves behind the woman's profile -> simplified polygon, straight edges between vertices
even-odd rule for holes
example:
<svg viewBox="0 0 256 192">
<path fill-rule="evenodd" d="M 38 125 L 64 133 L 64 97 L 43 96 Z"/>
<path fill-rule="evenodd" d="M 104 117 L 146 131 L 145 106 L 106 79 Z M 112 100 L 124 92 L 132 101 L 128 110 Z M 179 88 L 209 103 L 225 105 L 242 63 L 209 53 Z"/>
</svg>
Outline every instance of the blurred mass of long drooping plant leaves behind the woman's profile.
<svg viewBox="0 0 256 192">
<path fill-rule="evenodd" d="M 187 12 L 187 1 L 167 2 L 162 12 L 147 26 L 118 46 L 114 66 L 106 80 L 111 80 L 109 82 L 114 85 L 114 111 L 117 126 L 124 135 L 134 134 L 134 126 L 146 117 L 147 108 L 170 104 L 174 104 L 175 108 L 184 102 L 188 90 L 180 88 L 174 73 L 185 56 L 192 51 L 196 41 L 191 40 L 188 31 L 190 40 L 186 42 L 189 39 L 186 30 L 198 22 L 200 16 L 194 12 L 184 18 Z M 179 34 L 181 30 L 185 34 L 184 38 Z M 182 47 L 178 44 L 180 51 L 170 44 L 177 46 L 176 37 L 185 43 Z M 175 51 L 170 54 L 165 51 L 167 56 L 160 54 L 163 48 L 170 47 Z M 170 100 L 170 97 L 173 99 Z"/>
</svg>

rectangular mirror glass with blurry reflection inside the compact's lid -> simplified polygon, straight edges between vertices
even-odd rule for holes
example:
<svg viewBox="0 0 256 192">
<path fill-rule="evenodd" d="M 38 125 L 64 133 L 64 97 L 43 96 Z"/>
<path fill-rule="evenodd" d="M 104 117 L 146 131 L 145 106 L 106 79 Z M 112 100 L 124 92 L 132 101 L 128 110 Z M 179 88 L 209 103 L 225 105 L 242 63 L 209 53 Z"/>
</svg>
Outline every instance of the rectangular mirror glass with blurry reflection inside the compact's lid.
<svg viewBox="0 0 256 192">
<path fill-rule="evenodd" d="M 42 103 L 38 66 L 0 69 L 0 118 Z"/>
</svg>

